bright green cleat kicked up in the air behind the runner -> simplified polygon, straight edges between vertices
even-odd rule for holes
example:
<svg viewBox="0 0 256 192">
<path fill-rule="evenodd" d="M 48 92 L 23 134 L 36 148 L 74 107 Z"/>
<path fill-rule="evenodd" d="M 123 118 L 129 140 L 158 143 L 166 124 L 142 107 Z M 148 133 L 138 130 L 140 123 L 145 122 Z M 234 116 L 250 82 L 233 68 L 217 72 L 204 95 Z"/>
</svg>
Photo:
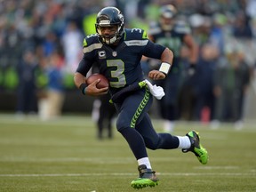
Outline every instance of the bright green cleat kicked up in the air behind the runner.
<svg viewBox="0 0 256 192">
<path fill-rule="evenodd" d="M 200 137 L 197 132 L 191 131 L 186 134 L 191 142 L 191 148 L 182 148 L 183 153 L 191 151 L 194 153 L 201 164 L 207 164 L 208 152 L 200 144 Z"/>
</svg>

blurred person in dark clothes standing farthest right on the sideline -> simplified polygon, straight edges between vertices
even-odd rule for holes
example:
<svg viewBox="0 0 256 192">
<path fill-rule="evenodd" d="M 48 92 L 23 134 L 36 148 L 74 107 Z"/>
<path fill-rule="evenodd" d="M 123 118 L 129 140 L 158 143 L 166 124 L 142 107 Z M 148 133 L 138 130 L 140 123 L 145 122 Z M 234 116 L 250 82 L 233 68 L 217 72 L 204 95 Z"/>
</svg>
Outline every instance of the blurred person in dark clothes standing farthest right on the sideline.
<svg viewBox="0 0 256 192">
<path fill-rule="evenodd" d="M 249 82 L 250 70 L 243 51 L 237 44 L 228 44 L 214 76 L 215 118 L 218 121 L 236 123 L 238 129 L 243 127 L 244 96 Z"/>
</svg>

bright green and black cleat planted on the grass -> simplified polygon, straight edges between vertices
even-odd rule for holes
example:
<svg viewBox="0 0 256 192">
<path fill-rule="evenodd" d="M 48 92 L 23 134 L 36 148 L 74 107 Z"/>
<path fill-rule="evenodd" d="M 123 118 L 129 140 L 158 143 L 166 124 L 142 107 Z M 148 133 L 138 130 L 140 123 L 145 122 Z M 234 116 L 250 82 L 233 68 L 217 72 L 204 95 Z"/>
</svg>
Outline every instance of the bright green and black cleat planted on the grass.
<svg viewBox="0 0 256 192">
<path fill-rule="evenodd" d="M 140 172 L 140 175 L 138 179 L 132 180 L 132 188 L 152 188 L 158 185 L 158 179 L 156 178 L 155 174 L 156 172 L 152 171 L 151 169 L 147 169 L 145 164 L 141 164 L 138 167 L 138 170 Z"/>
</svg>

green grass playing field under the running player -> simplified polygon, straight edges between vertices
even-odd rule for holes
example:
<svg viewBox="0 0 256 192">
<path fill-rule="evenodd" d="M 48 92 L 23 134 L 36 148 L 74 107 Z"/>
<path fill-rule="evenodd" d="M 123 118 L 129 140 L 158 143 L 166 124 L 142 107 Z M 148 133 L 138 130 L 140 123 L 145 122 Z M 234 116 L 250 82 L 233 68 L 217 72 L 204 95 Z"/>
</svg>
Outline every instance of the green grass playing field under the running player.
<svg viewBox="0 0 256 192">
<path fill-rule="evenodd" d="M 161 121 L 154 120 L 158 132 Z M 160 179 L 143 191 L 256 191 L 256 126 L 232 124 L 218 130 L 208 125 L 180 122 L 175 135 L 200 132 L 209 163 L 200 164 L 180 149 L 148 150 Z M 42 122 L 0 114 L 1 192 L 129 192 L 138 177 L 137 162 L 115 131 L 113 140 L 97 140 L 90 116 L 62 116 Z"/>
</svg>

